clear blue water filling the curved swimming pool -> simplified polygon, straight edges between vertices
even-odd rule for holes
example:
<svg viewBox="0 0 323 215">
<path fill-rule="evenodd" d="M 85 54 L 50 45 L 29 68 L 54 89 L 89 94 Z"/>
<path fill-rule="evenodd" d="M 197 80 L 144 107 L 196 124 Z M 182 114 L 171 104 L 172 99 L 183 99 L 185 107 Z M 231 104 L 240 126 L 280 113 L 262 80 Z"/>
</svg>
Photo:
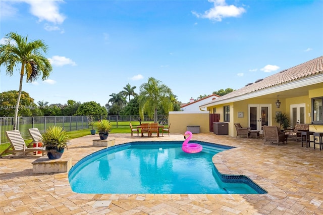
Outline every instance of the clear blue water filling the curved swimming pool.
<svg viewBox="0 0 323 215">
<path fill-rule="evenodd" d="M 201 152 L 183 152 L 182 141 L 133 142 L 102 149 L 72 167 L 71 188 L 97 194 L 265 193 L 245 176 L 218 173 L 212 156 L 228 147 L 194 142 L 203 146 Z"/>
</svg>

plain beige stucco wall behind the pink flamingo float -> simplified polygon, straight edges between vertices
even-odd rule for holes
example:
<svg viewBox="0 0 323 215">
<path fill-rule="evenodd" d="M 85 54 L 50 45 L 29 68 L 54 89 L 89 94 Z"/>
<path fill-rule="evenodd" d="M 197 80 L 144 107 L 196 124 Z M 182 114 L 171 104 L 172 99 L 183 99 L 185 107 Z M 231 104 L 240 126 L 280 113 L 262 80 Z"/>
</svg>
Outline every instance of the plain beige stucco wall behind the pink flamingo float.
<svg viewBox="0 0 323 215">
<path fill-rule="evenodd" d="M 200 133 L 209 132 L 209 112 L 169 112 L 170 133 L 184 134 L 186 126 L 200 126 Z"/>
</svg>

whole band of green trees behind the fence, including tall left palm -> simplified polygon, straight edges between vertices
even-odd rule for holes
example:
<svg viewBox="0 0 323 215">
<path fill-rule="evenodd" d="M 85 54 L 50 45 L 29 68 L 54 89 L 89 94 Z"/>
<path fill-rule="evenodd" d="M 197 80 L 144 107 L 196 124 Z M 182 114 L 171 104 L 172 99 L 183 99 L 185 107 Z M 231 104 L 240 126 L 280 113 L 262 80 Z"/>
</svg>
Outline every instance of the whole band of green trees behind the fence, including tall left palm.
<svg viewBox="0 0 323 215">
<path fill-rule="evenodd" d="M 0 66 L 6 67 L 6 74 L 12 76 L 14 69 L 21 65 L 19 90 L 0 94 L 0 116 L 14 116 L 13 130 L 16 130 L 18 116 L 139 115 L 143 119 L 146 114 L 156 122 L 158 114 L 167 115 L 169 111 L 180 111 L 177 96 L 167 85 L 153 77 L 140 86 L 139 94 L 134 92 L 136 87 L 131 87 L 128 83 L 124 90 L 110 95 L 112 98 L 105 107 L 95 101 L 80 103 L 74 100 L 68 100 L 66 104 L 48 105 L 47 101 L 38 101 L 35 104 L 34 99 L 22 91 L 23 77 L 26 76 L 27 82 L 33 82 L 39 77 L 46 80 L 52 67 L 43 56 L 48 50 L 45 42 L 39 39 L 27 42 L 27 38 L 28 36 L 10 32 L 3 38 L 4 43 L 0 44 Z"/>
</svg>

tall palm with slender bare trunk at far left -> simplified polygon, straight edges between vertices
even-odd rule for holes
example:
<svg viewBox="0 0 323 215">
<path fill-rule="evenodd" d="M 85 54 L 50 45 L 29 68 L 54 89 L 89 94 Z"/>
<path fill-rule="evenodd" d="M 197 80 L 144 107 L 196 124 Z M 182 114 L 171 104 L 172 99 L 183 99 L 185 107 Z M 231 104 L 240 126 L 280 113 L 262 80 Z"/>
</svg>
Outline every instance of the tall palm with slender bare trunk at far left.
<svg viewBox="0 0 323 215">
<path fill-rule="evenodd" d="M 42 80 L 46 80 L 52 70 L 50 62 L 41 52 L 46 53 L 48 46 L 42 40 L 33 40 L 27 43 L 27 37 L 10 32 L 4 39 L 5 43 L 0 44 L 0 66 L 6 65 L 6 73 L 13 75 L 14 68 L 21 64 L 20 83 L 15 110 L 14 128 L 17 127 L 18 108 L 20 103 L 22 80 L 27 76 L 27 82 L 35 81 L 41 74 Z"/>
</svg>

